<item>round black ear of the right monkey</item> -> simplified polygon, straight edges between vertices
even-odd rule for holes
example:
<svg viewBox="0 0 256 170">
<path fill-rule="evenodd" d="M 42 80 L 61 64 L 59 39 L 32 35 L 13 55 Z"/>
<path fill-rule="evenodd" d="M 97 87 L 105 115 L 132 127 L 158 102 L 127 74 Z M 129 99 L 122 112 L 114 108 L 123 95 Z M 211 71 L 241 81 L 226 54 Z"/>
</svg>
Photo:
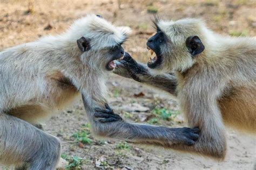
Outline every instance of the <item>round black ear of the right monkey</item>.
<svg viewBox="0 0 256 170">
<path fill-rule="evenodd" d="M 198 36 L 191 36 L 186 39 L 186 47 L 192 56 L 204 51 L 205 46 Z"/>
</svg>

